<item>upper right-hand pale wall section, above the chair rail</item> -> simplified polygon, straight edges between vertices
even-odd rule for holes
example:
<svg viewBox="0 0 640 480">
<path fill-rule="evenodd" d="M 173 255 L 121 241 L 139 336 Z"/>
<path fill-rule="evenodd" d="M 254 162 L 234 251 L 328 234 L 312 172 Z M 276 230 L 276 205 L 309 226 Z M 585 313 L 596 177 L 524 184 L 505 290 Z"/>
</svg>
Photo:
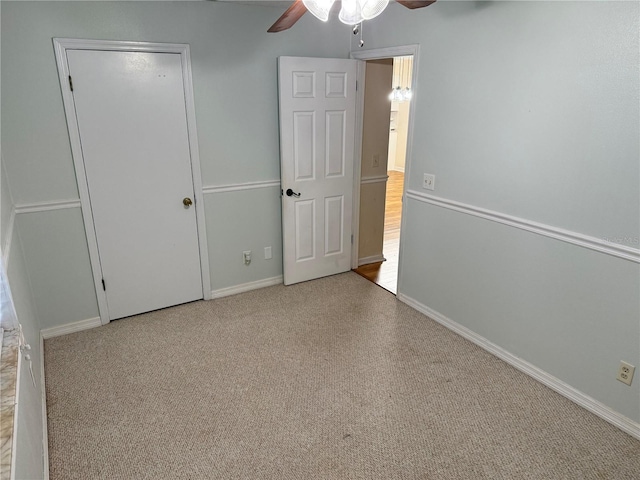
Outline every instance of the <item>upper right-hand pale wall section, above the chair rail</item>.
<svg viewBox="0 0 640 480">
<path fill-rule="evenodd" d="M 420 44 L 409 187 L 422 190 L 422 174 L 433 173 L 445 198 L 637 238 L 639 8 L 394 4 L 367 22 L 365 48 Z"/>
</svg>

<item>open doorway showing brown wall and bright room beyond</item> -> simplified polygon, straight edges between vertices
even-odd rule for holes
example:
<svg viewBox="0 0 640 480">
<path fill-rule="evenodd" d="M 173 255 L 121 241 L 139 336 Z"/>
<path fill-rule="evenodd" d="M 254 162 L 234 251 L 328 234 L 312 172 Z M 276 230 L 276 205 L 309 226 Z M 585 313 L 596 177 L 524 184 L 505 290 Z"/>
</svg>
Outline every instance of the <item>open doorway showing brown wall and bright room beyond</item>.
<svg viewBox="0 0 640 480">
<path fill-rule="evenodd" d="M 356 273 L 397 294 L 413 55 L 368 60 Z M 377 174 L 377 175 L 376 175 Z"/>
</svg>

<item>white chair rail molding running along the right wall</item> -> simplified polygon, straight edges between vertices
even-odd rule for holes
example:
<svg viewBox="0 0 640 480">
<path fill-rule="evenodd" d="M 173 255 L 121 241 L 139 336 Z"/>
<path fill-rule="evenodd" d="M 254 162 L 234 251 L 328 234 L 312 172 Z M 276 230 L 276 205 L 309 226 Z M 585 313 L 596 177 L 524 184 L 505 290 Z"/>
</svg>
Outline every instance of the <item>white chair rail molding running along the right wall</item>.
<svg viewBox="0 0 640 480">
<path fill-rule="evenodd" d="M 579 247 L 588 248 L 596 252 L 629 260 L 634 263 L 640 263 L 640 249 L 627 247 L 619 243 L 613 243 L 604 238 L 596 238 L 582 233 L 572 232 L 563 228 L 553 227 L 544 223 L 534 222 L 532 220 L 507 215 L 505 213 L 476 207 L 462 202 L 456 202 L 455 200 L 429 195 L 416 190 L 407 190 L 406 196 L 411 200 L 483 218 L 485 220 L 490 220 L 492 222 L 501 223 L 503 225 L 535 233 L 537 235 L 553 238 Z"/>
</svg>

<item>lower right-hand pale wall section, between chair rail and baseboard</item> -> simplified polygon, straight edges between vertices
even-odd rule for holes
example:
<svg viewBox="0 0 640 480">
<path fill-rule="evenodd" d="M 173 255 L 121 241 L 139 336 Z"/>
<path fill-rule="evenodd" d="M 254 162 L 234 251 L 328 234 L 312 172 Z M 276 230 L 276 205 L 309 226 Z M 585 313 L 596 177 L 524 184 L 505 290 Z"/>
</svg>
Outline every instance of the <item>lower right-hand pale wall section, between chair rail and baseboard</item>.
<svg viewBox="0 0 640 480">
<path fill-rule="evenodd" d="M 404 295 L 638 420 L 640 382 L 615 379 L 640 365 L 638 264 L 415 200 L 406 214 Z"/>
</svg>

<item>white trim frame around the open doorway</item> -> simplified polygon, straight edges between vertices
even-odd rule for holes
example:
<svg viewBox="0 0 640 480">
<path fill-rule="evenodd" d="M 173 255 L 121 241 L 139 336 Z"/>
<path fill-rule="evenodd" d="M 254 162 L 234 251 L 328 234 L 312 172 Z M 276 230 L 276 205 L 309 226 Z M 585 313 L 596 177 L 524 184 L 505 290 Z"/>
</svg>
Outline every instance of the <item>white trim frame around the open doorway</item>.
<svg viewBox="0 0 640 480">
<path fill-rule="evenodd" d="M 366 72 L 366 60 L 379 60 L 382 58 L 403 57 L 413 55 L 413 70 L 411 72 L 413 97 L 411 101 L 415 104 L 418 94 L 418 66 L 420 45 L 401 45 L 398 47 L 374 48 L 371 50 L 354 50 L 351 52 L 351 58 L 362 60 L 358 62 L 358 91 L 356 95 L 356 143 L 355 143 L 355 159 L 353 172 L 353 245 L 351 246 L 351 268 L 358 268 L 358 242 L 360 241 L 360 181 L 362 172 L 362 133 L 364 124 L 364 83 Z M 413 124 L 416 109 L 412 106 L 409 109 L 409 125 L 407 132 L 407 153 L 405 161 L 405 172 L 411 172 L 411 159 L 413 150 Z M 406 174 L 405 174 L 406 175 Z M 402 268 L 402 232 L 404 231 L 405 222 L 405 193 L 407 190 L 407 181 L 402 189 L 402 219 L 400 221 L 400 250 L 398 253 L 398 278 L 400 278 L 400 270 Z M 398 282 L 398 287 L 400 282 Z M 397 292 L 400 293 L 400 290 Z"/>
</svg>

